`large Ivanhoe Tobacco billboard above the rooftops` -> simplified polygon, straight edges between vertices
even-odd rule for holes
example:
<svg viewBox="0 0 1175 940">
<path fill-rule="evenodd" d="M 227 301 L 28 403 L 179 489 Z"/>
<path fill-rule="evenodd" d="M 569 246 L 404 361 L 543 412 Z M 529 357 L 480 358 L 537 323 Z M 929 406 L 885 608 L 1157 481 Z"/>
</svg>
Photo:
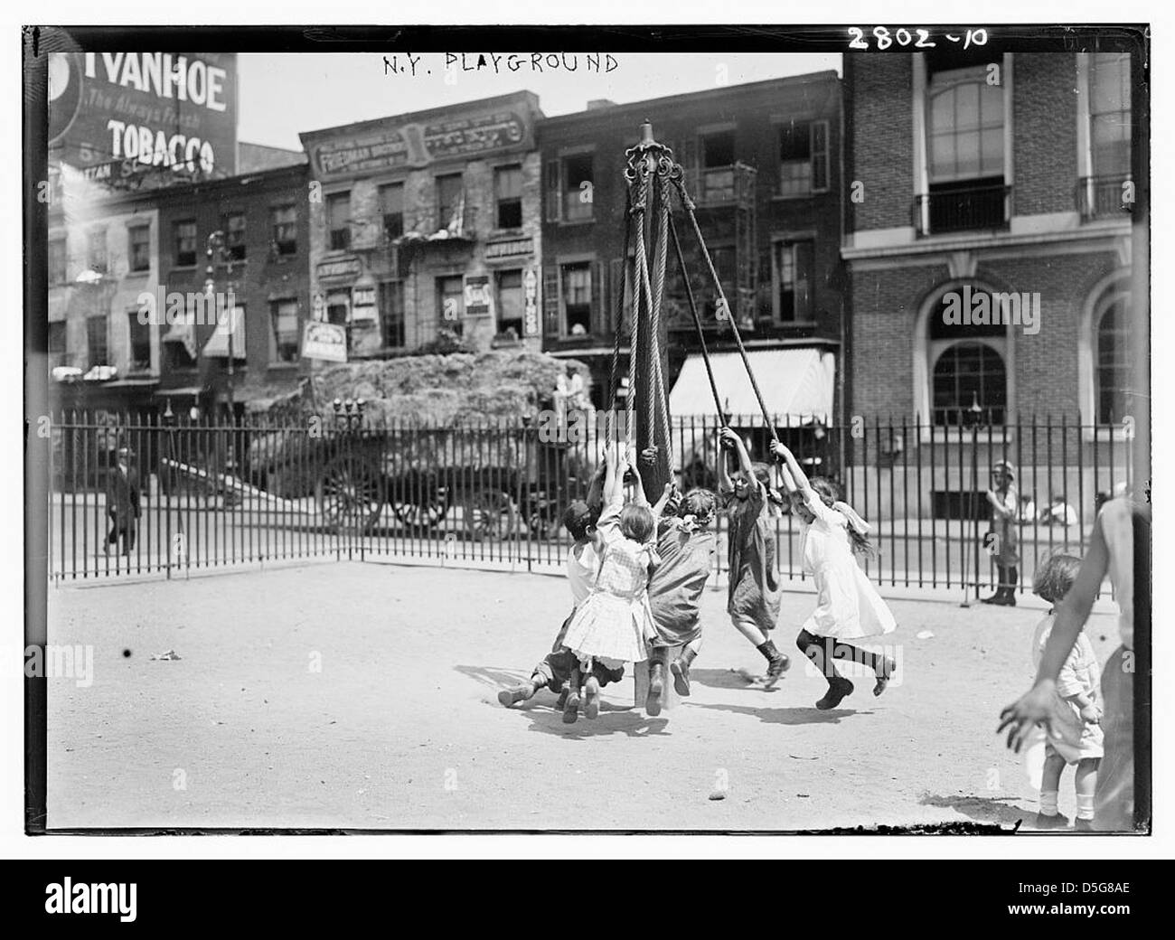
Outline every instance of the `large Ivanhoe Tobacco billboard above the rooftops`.
<svg viewBox="0 0 1175 940">
<path fill-rule="evenodd" d="M 236 173 L 236 53 L 52 53 L 49 162 L 146 188 Z"/>
</svg>

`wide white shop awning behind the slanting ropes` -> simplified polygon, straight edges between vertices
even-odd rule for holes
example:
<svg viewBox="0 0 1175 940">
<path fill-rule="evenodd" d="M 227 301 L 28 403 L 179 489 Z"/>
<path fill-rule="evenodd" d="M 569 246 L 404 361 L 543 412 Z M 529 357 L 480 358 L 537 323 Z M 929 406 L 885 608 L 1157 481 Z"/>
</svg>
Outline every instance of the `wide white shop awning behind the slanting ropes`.
<svg viewBox="0 0 1175 940">
<path fill-rule="evenodd" d="M 786 423 L 810 422 L 825 424 L 832 419 L 832 397 L 835 385 L 835 357 L 822 349 L 750 350 L 747 360 L 763 392 L 767 412 Z M 743 357 L 738 352 L 712 352 L 710 363 L 723 408 L 741 425 L 761 425 L 759 403 L 747 378 Z M 673 417 L 713 416 L 714 400 L 710 380 L 700 355 L 691 355 L 669 396 Z"/>
</svg>

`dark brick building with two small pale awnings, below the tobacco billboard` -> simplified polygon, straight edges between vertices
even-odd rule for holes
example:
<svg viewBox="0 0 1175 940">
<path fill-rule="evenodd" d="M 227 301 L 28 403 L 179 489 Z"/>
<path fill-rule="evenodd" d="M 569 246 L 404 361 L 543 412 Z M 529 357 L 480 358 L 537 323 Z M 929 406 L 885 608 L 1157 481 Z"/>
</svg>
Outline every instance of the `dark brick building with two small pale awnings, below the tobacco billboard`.
<svg viewBox="0 0 1175 940">
<path fill-rule="evenodd" d="M 308 194 L 304 162 L 155 194 L 160 282 L 189 295 L 186 321 L 161 330 L 157 396 L 188 403 L 190 395 L 223 408 L 230 347 L 239 412 L 297 387 L 308 370 L 300 358 L 310 315 Z M 214 260 L 214 288 L 235 298 L 231 342 L 228 318 L 217 327 L 193 309 L 193 296 L 206 289 L 215 231 L 224 250 Z"/>
</svg>

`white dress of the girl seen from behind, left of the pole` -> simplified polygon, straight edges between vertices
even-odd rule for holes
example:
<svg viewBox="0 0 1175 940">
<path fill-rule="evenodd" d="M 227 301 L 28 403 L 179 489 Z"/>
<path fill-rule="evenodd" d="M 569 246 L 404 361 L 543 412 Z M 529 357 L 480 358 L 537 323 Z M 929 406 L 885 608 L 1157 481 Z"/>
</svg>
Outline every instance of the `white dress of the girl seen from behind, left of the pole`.
<svg viewBox="0 0 1175 940">
<path fill-rule="evenodd" d="M 657 556 L 652 544 L 624 537 L 619 516 L 619 505 L 610 505 L 596 524 L 604 540 L 599 575 L 563 637 L 577 657 L 592 657 L 609 669 L 645 659 L 645 642 L 656 636 L 647 588 L 649 562 Z"/>
</svg>

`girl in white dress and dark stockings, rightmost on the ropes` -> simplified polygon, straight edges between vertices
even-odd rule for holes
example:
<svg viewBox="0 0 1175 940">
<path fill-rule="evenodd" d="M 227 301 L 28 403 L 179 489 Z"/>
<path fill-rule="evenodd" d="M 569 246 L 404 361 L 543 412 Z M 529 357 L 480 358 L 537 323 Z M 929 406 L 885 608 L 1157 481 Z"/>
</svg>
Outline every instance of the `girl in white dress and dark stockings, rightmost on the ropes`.
<svg viewBox="0 0 1175 940">
<path fill-rule="evenodd" d="M 773 441 L 772 452 L 781 458 L 784 488 L 800 519 L 800 557 L 804 571 L 815 582 L 817 607 L 804 622 L 795 645 L 820 670 L 828 691 L 815 703 L 821 711 L 835 709 L 853 684 L 837 672 L 835 659 L 861 663 L 873 670 L 880 696 L 895 664 L 880 653 L 858 649 L 850 639 L 891 633 L 897 627 L 889 607 L 853 557 L 854 551 L 871 552 L 868 523 L 847 503 L 837 501 L 837 490 L 826 479 L 808 481 L 784 444 Z"/>
</svg>

